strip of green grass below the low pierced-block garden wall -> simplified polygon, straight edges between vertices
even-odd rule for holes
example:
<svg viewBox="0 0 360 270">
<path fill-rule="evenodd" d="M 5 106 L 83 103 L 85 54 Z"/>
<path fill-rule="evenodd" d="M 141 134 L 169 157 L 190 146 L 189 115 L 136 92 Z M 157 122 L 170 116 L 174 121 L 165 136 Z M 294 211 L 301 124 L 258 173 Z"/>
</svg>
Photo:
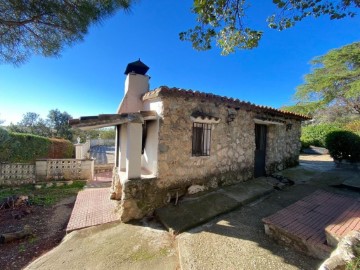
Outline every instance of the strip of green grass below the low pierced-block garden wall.
<svg viewBox="0 0 360 270">
<path fill-rule="evenodd" d="M 61 199 L 74 196 L 85 186 L 84 181 L 74 181 L 71 185 L 35 189 L 34 185 L 0 189 L 0 200 L 13 195 L 30 195 L 29 202 L 33 205 L 51 206 Z"/>
</svg>

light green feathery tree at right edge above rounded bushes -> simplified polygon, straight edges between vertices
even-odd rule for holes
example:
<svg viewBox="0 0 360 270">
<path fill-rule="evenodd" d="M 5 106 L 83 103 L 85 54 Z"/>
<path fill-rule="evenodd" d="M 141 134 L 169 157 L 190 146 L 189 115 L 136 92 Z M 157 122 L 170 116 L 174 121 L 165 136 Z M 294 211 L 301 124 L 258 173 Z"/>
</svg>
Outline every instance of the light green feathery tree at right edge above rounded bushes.
<svg viewBox="0 0 360 270">
<path fill-rule="evenodd" d="M 311 61 L 313 70 L 295 93 L 298 113 L 340 111 L 360 116 L 360 42 L 329 51 Z"/>
</svg>

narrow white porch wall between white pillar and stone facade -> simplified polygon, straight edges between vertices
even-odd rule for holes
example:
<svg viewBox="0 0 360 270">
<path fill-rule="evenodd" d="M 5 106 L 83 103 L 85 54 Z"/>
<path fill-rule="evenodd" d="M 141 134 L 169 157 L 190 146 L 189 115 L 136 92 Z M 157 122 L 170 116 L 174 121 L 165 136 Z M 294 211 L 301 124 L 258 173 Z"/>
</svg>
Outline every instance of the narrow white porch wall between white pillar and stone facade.
<svg viewBox="0 0 360 270">
<path fill-rule="evenodd" d="M 141 156 L 141 167 L 157 175 L 159 145 L 159 120 L 147 121 L 147 137 L 144 154 Z"/>
</svg>

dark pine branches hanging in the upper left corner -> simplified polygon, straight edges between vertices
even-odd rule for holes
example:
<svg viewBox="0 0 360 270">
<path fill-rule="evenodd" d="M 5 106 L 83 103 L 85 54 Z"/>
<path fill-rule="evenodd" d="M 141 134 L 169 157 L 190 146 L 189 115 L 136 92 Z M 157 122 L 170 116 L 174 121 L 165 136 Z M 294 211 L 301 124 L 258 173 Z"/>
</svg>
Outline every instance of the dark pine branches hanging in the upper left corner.
<svg viewBox="0 0 360 270">
<path fill-rule="evenodd" d="M 23 63 L 31 54 L 58 56 L 82 40 L 91 24 L 132 0 L 0 0 L 0 63 Z"/>
</svg>

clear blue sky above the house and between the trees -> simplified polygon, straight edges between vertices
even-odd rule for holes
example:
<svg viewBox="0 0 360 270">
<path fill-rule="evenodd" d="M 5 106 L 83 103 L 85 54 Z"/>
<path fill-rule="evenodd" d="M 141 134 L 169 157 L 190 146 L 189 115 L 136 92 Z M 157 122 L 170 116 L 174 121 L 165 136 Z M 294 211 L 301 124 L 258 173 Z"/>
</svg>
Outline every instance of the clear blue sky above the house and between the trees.
<svg viewBox="0 0 360 270">
<path fill-rule="evenodd" d="M 138 58 L 150 67 L 150 88 L 180 87 L 278 108 L 291 103 L 310 71 L 309 61 L 360 40 L 360 17 L 307 19 L 286 31 L 267 28 L 272 1 L 253 0 L 246 22 L 264 30 L 258 48 L 221 56 L 197 52 L 178 33 L 194 25 L 190 0 L 140 1 L 92 26 L 83 42 L 60 58 L 34 56 L 20 67 L 0 65 L 0 119 L 16 123 L 26 112 L 51 109 L 73 117 L 115 113 L 124 70 Z M 259 3 L 261 2 L 261 3 Z"/>
</svg>

